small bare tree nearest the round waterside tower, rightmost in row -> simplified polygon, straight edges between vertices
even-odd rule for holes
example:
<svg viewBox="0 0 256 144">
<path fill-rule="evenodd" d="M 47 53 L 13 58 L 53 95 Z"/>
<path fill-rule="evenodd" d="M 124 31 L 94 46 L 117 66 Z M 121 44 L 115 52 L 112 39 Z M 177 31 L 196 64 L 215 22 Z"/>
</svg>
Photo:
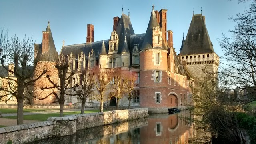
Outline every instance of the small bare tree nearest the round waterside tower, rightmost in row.
<svg viewBox="0 0 256 144">
<path fill-rule="evenodd" d="M 135 98 L 134 96 L 134 84 L 136 81 L 136 76 L 134 72 L 129 72 L 128 75 L 126 76 L 126 93 L 127 93 L 127 98 L 128 98 L 128 109 L 130 109 L 131 105 L 131 100 L 132 98 Z"/>
</svg>

